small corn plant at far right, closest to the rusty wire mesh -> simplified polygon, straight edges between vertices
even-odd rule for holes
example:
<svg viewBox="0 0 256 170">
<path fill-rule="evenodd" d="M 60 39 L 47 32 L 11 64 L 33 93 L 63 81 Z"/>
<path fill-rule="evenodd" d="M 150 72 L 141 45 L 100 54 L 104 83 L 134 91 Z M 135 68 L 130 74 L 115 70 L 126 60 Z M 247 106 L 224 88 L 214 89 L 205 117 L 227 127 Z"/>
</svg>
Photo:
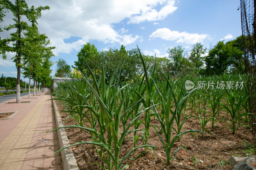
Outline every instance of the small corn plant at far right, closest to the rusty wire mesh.
<svg viewBox="0 0 256 170">
<path fill-rule="evenodd" d="M 227 101 L 229 103 L 230 106 L 226 106 L 218 101 L 212 101 L 216 104 L 219 104 L 220 106 L 224 107 L 225 110 L 227 111 L 227 114 L 230 115 L 232 122 L 228 121 L 228 119 L 226 118 L 219 118 L 221 121 L 225 122 L 228 124 L 228 128 L 232 131 L 232 134 L 235 134 L 236 132 L 236 128 L 241 127 L 241 126 L 246 126 L 246 125 L 240 125 L 238 127 L 236 127 L 236 122 L 244 115 L 249 115 L 249 113 L 243 113 L 239 116 L 237 116 L 237 112 L 239 110 L 239 107 L 242 105 L 242 102 L 248 98 L 248 94 L 245 94 L 243 97 L 240 96 L 239 99 L 237 100 L 236 103 L 236 98 L 238 97 L 238 91 L 239 89 L 231 89 L 230 92 L 225 89 L 227 92 Z"/>
</svg>

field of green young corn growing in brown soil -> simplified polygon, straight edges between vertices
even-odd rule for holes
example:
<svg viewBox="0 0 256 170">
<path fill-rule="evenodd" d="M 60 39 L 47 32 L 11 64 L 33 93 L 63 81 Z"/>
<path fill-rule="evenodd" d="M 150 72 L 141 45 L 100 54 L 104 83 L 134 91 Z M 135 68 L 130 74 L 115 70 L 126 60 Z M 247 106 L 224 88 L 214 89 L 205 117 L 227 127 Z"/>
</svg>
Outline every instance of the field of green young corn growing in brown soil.
<svg viewBox="0 0 256 170">
<path fill-rule="evenodd" d="M 124 160 L 134 159 L 132 154 L 139 148 L 143 148 L 143 152 L 137 158 L 147 156 L 148 152 L 155 155 L 157 148 L 148 144 L 149 127 L 153 127 L 163 144 L 168 166 L 176 152 L 181 148 L 187 150 L 183 145 L 171 151 L 175 142 L 182 140 L 186 133 L 211 134 L 211 128 L 222 128 L 215 125 L 218 121 L 226 124 L 230 135 L 240 127 L 251 129 L 245 75 L 172 78 L 163 73 L 165 80 L 159 81 L 155 76 L 155 63 L 149 68 L 141 55 L 140 58 L 143 70 L 136 81 L 120 81 L 123 74 L 118 71 L 120 62 L 108 82 L 102 63 L 100 76 L 89 69 L 90 74 L 81 74 L 79 81 L 65 81 L 58 85 L 54 99 L 66 107 L 65 112 L 69 113 L 66 119 L 76 122 L 76 125 L 63 128 L 85 130 L 92 138 L 92 141 L 80 141 L 68 147 L 78 144 L 98 146 L 95 149 L 102 169 L 124 169 L 129 166 L 123 164 Z M 158 120 L 160 126 L 152 125 L 152 119 Z M 201 130 L 182 130 L 189 119 L 198 120 Z M 207 129 L 207 124 L 211 128 Z M 144 128 L 139 129 L 141 126 Z M 138 135 L 139 131 L 141 135 Z M 132 134 L 132 149 L 120 157 L 129 134 Z M 142 139 L 142 143 L 138 143 L 138 139 Z"/>
</svg>

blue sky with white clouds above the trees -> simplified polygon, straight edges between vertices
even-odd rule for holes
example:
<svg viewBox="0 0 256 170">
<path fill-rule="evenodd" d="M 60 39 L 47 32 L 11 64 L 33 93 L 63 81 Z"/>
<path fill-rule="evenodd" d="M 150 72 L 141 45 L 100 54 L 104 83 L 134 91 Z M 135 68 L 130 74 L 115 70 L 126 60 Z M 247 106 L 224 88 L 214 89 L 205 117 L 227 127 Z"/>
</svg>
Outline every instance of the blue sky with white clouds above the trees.
<svg viewBox="0 0 256 170">
<path fill-rule="evenodd" d="M 50 7 L 37 20 L 38 30 L 56 47 L 52 61 L 61 58 L 70 66 L 87 42 L 98 51 L 138 45 L 144 55 L 168 57 L 168 48 L 180 45 L 189 52 L 200 41 L 208 52 L 218 41 L 242 34 L 239 0 L 30 0 L 27 4 Z M 12 18 L 11 12 L 6 13 L 1 26 L 13 23 Z M 7 53 L 6 60 L 0 56 L 1 75 L 17 77 L 14 55 Z M 56 63 L 51 69 L 53 76 Z"/>
</svg>

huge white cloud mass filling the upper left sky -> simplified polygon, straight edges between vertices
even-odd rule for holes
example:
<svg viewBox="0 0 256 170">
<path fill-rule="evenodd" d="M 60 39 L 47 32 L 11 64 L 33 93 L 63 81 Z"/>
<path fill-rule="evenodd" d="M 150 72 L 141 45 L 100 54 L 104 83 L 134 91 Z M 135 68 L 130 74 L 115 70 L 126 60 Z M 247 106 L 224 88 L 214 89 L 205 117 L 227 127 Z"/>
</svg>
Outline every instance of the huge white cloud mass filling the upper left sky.
<svg viewBox="0 0 256 170">
<path fill-rule="evenodd" d="M 27 3 L 35 7 L 50 6 L 50 10 L 42 11 L 37 22 L 38 30 L 45 33 L 51 39 L 51 45 L 56 47 L 55 55 L 70 53 L 90 40 L 132 43 L 136 37 L 127 41 L 128 30 L 116 29 L 115 23 L 121 23 L 125 18 L 130 23 L 163 20 L 177 9 L 174 0 L 101 0 L 97 3 L 94 0 L 86 3 L 84 0 L 33 0 Z M 162 7 L 160 11 L 156 11 L 158 7 Z M 12 18 L 8 21 L 12 22 Z M 82 37 L 82 40 L 72 44 L 63 42 L 71 36 Z"/>
</svg>

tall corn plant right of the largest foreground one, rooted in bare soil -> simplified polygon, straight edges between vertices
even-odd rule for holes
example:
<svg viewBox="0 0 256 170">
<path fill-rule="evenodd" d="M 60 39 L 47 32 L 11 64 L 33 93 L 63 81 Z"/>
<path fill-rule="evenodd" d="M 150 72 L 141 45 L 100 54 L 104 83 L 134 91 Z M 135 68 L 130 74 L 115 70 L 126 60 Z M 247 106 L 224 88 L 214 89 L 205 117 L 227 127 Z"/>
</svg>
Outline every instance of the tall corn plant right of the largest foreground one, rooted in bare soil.
<svg viewBox="0 0 256 170">
<path fill-rule="evenodd" d="M 165 76 L 165 75 L 164 75 L 164 76 Z M 173 112 L 173 111 L 172 111 L 171 104 L 172 104 L 173 99 L 175 98 L 175 93 L 173 92 L 173 85 L 174 85 L 175 82 L 173 82 L 172 85 L 171 85 L 171 83 L 169 82 L 168 78 L 167 78 L 166 76 L 165 76 L 165 78 L 166 78 L 166 80 L 167 80 L 167 82 L 168 82 L 168 86 L 170 87 L 170 93 L 171 93 L 171 94 L 169 94 L 170 96 L 168 97 L 167 101 L 164 100 L 164 97 L 162 96 L 161 92 L 159 91 L 159 89 L 158 89 L 157 86 L 156 86 L 156 91 L 158 92 L 159 97 L 160 97 L 160 99 L 161 99 L 161 100 L 159 101 L 159 103 L 160 103 L 161 106 L 162 106 L 162 111 L 163 111 L 163 114 L 164 114 L 165 124 L 164 124 L 164 122 L 162 121 L 162 118 L 160 117 L 160 115 L 157 113 L 156 107 L 153 107 L 153 110 L 154 110 L 154 112 L 155 112 L 155 114 L 156 114 L 156 117 L 157 117 L 158 121 L 160 122 L 161 127 L 162 127 L 162 129 L 163 129 L 165 141 L 163 140 L 163 138 L 162 138 L 161 135 L 159 134 L 159 132 L 158 132 L 158 130 L 156 129 L 156 127 L 155 127 L 155 126 L 153 126 L 153 127 L 155 128 L 155 130 L 156 130 L 158 136 L 160 137 L 160 140 L 161 140 L 161 142 L 162 142 L 162 144 L 163 144 L 163 146 L 164 146 L 164 151 L 165 151 L 165 153 L 166 153 L 166 165 L 168 166 L 168 165 L 170 164 L 170 160 L 174 159 L 174 158 L 172 158 L 173 155 L 174 155 L 177 151 L 179 151 L 181 148 L 184 147 L 184 146 L 180 146 L 180 147 L 179 147 L 176 151 L 174 151 L 174 152 L 172 153 L 172 155 L 171 155 L 171 149 L 172 149 L 172 147 L 173 147 L 174 142 L 175 142 L 178 138 L 180 138 L 182 135 L 184 135 L 184 134 L 186 134 L 186 133 L 190 133 L 190 132 L 202 132 L 202 131 L 200 131 L 200 130 L 186 130 L 186 131 L 183 131 L 183 132 L 180 132 L 180 131 L 179 131 L 179 134 L 177 134 L 177 135 L 176 135 L 175 137 L 173 137 L 172 140 L 171 140 L 171 137 L 172 137 L 172 136 L 171 136 L 171 135 L 172 135 L 172 129 L 174 129 L 174 128 L 173 128 L 174 120 L 177 119 L 177 118 L 179 119 L 179 116 L 176 117 L 176 115 L 177 115 L 178 112 L 180 112 L 180 110 L 182 110 L 182 108 L 184 108 L 184 106 L 186 105 L 186 101 L 187 101 L 188 96 L 189 96 L 193 91 L 195 91 L 196 88 L 193 89 L 193 90 L 191 90 L 190 92 L 184 94 L 184 95 L 182 96 L 182 98 L 181 98 L 181 96 L 180 96 L 179 102 L 177 102 L 177 100 L 176 100 L 176 102 L 175 102 L 175 111 Z M 175 100 L 174 100 L 174 101 L 175 101 Z M 171 112 L 172 114 L 170 114 L 170 112 Z M 171 117 L 170 117 L 170 115 L 171 115 Z M 174 129 L 174 130 L 175 130 L 176 133 L 177 133 L 177 130 L 176 130 L 176 129 Z M 204 132 L 203 132 L 203 133 L 204 133 Z"/>
</svg>

